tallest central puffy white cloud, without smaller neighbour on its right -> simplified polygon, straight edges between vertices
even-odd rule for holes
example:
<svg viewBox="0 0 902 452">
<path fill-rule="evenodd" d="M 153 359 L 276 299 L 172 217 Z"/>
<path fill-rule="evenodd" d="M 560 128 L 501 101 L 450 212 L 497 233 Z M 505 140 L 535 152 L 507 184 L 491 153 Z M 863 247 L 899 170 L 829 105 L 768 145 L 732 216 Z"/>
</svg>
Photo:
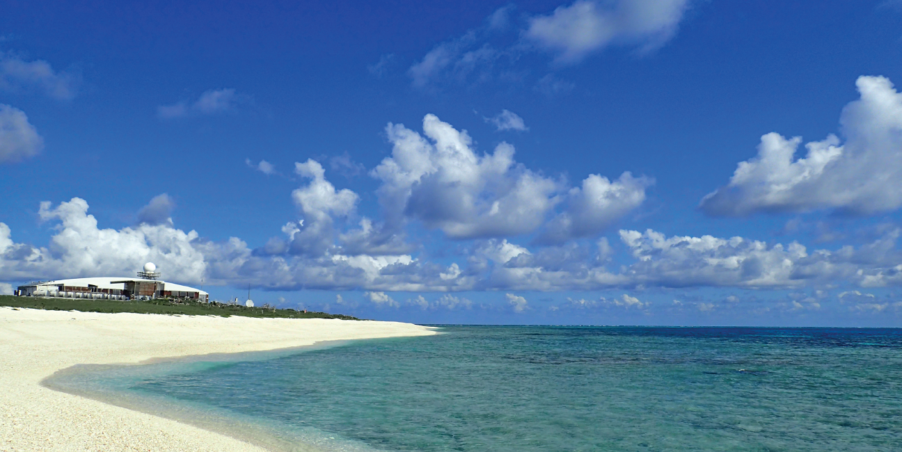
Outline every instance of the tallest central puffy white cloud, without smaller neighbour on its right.
<svg viewBox="0 0 902 452">
<path fill-rule="evenodd" d="M 517 164 L 513 146 L 478 156 L 466 131 L 435 115 L 423 118 L 426 138 L 389 124 L 391 157 L 373 169 L 388 221 L 423 221 L 456 239 L 532 231 L 554 206 L 556 183 Z"/>
</svg>

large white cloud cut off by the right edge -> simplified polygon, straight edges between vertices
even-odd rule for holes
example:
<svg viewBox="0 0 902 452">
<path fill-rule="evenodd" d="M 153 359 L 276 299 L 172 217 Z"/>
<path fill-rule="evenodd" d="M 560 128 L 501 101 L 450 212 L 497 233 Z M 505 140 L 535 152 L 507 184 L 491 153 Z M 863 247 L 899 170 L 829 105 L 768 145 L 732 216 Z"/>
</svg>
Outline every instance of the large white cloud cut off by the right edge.
<svg viewBox="0 0 902 452">
<path fill-rule="evenodd" d="M 809 212 L 852 214 L 902 206 L 902 94 L 886 77 L 859 77 L 859 100 L 840 116 L 841 134 L 805 144 L 778 133 L 761 137 L 758 156 L 741 162 L 730 183 L 708 194 L 701 209 L 712 215 Z"/>
</svg>

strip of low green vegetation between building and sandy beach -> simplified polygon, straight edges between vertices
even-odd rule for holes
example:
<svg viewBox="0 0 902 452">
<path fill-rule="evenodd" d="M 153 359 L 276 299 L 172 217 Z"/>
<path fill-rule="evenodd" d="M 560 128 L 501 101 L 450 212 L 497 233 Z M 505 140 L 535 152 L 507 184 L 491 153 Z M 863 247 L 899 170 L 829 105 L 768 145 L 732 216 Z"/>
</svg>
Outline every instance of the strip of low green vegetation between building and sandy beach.
<svg viewBox="0 0 902 452">
<path fill-rule="evenodd" d="M 38 298 L 32 296 L 0 295 L 0 306 L 14 308 L 44 309 L 48 311 L 80 312 L 135 312 L 139 314 L 170 315 L 218 315 L 229 317 L 261 317 L 278 319 L 342 319 L 357 321 L 355 317 L 327 312 L 303 312 L 293 309 L 247 308 L 223 303 L 179 303 L 170 300 L 120 301 L 120 300 L 73 300 L 70 298 Z"/>
</svg>

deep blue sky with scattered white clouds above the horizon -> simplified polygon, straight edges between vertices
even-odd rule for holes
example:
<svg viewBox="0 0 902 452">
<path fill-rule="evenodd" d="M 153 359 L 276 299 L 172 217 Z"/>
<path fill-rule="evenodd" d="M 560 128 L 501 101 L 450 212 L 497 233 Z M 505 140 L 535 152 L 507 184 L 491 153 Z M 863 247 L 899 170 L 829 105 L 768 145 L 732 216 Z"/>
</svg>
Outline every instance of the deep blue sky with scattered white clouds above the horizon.
<svg viewBox="0 0 902 452">
<path fill-rule="evenodd" d="M 900 57 L 885 1 L 6 2 L 0 292 L 902 326 Z"/>
</svg>

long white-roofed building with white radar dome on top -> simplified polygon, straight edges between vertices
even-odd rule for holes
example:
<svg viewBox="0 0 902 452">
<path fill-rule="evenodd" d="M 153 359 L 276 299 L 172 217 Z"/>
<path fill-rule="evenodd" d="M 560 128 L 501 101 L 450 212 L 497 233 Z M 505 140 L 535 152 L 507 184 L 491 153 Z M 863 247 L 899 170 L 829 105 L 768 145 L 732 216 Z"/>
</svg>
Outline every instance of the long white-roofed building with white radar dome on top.
<svg viewBox="0 0 902 452">
<path fill-rule="evenodd" d="M 46 298 L 82 298 L 87 300 L 152 300 L 155 298 L 180 298 L 201 303 L 209 301 L 209 294 L 189 287 L 159 280 L 160 272 L 152 262 L 144 264 L 137 277 L 99 276 L 90 278 L 58 279 L 20 285 L 15 291 L 19 296 Z"/>
</svg>

